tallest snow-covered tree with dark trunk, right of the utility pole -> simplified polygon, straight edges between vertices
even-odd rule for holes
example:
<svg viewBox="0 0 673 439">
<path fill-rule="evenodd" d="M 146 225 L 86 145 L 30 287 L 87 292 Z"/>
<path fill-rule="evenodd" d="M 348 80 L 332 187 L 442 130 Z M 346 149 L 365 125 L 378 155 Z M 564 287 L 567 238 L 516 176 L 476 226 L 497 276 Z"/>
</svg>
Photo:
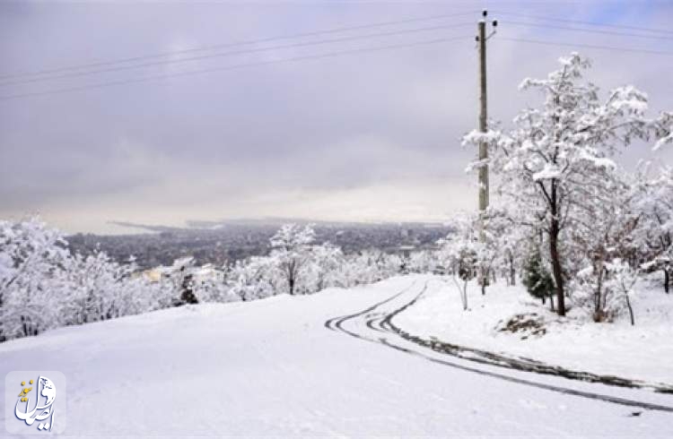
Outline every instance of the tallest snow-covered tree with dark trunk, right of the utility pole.
<svg viewBox="0 0 673 439">
<path fill-rule="evenodd" d="M 647 96 L 633 86 L 612 90 L 601 100 L 599 89 L 583 78 L 587 59 L 573 53 L 559 61 L 561 68 L 545 79 L 520 85 L 542 93 L 539 108 L 523 110 L 509 133 L 472 132 L 465 142 L 489 144 L 491 168 L 501 182 L 498 192 L 527 217 L 525 222 L 541 223 L 558 314 L 564 315 L 565 232 L 574 226 L 575 207 L 592 196 L 595 185 L 603 185 L 597 174 L 615 167 L 611 158 L 620 147 L 634 138 L 669 139 L 673 117 L 647 118 Z"/>
</svg>

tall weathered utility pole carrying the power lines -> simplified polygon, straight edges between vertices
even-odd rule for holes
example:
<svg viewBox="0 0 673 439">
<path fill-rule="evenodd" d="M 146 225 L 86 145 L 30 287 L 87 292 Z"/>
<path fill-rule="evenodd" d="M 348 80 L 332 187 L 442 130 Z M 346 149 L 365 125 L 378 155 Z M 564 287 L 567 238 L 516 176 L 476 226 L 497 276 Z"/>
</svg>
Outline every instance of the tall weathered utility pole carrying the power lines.
<svg viewBox="0 0 673 439">
<path fill-rule="evenodd" d="M 486 93 L 486 40 L 490 39 L 498 26 L 497 20 L 492 22 L 493 31 L 490 35 L 486 35 L 486 16 L 488 12 L 482 12 L 482 19 L 479 20 L 476 30 L 476 44 L 479 47 L 479 131 L 486 133 L 488 130 L 488 100 Z M 479 143 L 479 240 L 485 243 L 486 236 L 484 231 L 484 216 L 488 208 L 488 145 L 486 142 Z M 485 294 L 486 285 L 488 285 L 488 270 L 483 268 L 479 274 L 479 284 L 481 285 L 481 292 Z"/>
</svg>

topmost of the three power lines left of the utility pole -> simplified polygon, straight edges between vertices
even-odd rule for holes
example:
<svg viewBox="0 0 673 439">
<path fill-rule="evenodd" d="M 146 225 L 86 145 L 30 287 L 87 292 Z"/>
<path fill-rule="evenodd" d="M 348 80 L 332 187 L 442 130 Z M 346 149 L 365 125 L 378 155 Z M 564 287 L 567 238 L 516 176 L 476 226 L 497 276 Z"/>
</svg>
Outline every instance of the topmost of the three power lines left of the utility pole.
<svg viewBox="0 0 673 439">
<path fill-rule="evenodd" d="M 433 21 L 433 20 L 441 20 L 441 19 L 445 19 L 445 18 L 462 17 L 462 16 L 467 16 L 467 15 L 472 15 L 474 13 L 475 13 L 474 11 L 470 11 L 470 12 L 466 12 L 466 13 L 447 13 L 447 14 L 441 14 L 441 15 L 431 15 L 431 16 L 427 16 L 427 17 L 410 18 L 410 19 L 405 19 L 405 20 L 396 20 L 396 21 L 389 21 L 389 22 L 374 22 L 374 23 L 362 24 L 362 25 L 357 25 L 357 26 L 345 26 L 345 27 L 339 27 L 339 28 L 332 28 L 332 29 L 328 29 L 328 30 L 312 30 L 312 31 L 309 31 L 309 32 L 300 32 L 300 33 L 289 34 L 289 35 L 280 35 L 280 36 L 268 37 L 268 38 L 264 38 L 264 39 L 248 39 L 248 40 L 242 40 L 242 41 L 235 41 L 235 42 L 232 42 L 232 43 L 214 44 L 214 45 L 203 46 L 203 47 L 192 47 L 192 48 L 187 48 L 187 49 L 172 50 L 172 51 L 160 52 L 160 53 L 144 55 L 144 56 L 131 56 L 131 57 L 127 57 L 127 58 L 118 58 L 118 59 L 115 59 L 115 60 L 100 61 L 100 62 L 89 63 L 89 64 L 70 65 L 70 66 L 65 66 L 65 67 L 43 69 L 43 70 L 33 71 L 33 72 L 4 74 L 4 75 L 0 75 L 0 80 L 15 78 L 15 77 L 19 77 L 19 76 L 37 76 L 37 75 L 42 75 L 42 74 L 47 74 L 47 73 L 60 73 L 60 72 L 68 71 L 68 70 L 82 70 L 82 69 L 91 68 L 91 67 L 101 67 L 103 65 L 116 65 L 116 64 L 123 64 L 123 63 L 133 63 L 133 62 L 136 62 L 136 61 L 144 61 L 146 59 L 161 58 L 161 57 L 164 57 L 164 56 L 175 56 L 175 55 L 182 55 L 182 54 L 188 54 L 188 53 L 194 53 L 194 52 L 214 50 L 214 49 L 225 48 L 225 47 L 237 47 L 237 46 L 247 46 L 247 45 L 253 45 L 253 44 L 260 44 L 260 43 L 268 43 L 268 42 L 272 42 L 272 41 L 276 41 L 276 40 L 280 40 L 280 39 L 300 39 L 300 38 L 314 37 L 314 36 L 318 36 L 318 35 L 325 35 L 325 34 L 331 34 L 331 33 L 340 33 L 340 32 L 345 32 L 345 31 L 349 31 L 349 30 L 371 29 L 371 28 L 392 26 L 392 25 L 395 25 L 395 24 L 404 24 L 404 23 L 410 23 L 410 22 L 427 22 L 427 21 Z"/>
</svg>

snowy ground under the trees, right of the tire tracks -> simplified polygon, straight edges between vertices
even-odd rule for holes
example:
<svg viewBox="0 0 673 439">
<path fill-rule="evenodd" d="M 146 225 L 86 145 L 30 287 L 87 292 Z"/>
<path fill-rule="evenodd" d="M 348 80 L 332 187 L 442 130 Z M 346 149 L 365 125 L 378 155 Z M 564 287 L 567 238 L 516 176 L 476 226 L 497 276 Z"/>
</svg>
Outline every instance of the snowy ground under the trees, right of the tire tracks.
<svg viewBox="0 0 673 439">
<path fill-rule="evenodd" d="M 439 278 L 438 278 L 439 279 Z M 451 280 L 432 288 L 395 323 L 412 334 L 519 357 L 554 366 L 650 383 L 673 384 L 673 295 L 657 283 L 640 282 L 634 302 L 635 326 L 624 316 L 614 323 L 588 323 L 579 308 L 561 319 L 522 286 L 495 283 L 482 296 L 468 285 L 469 310 L 463 311 L 459 290 Z M 535 313 L 545 328 L 498 331 L 516 314 Z"/>
</svg>

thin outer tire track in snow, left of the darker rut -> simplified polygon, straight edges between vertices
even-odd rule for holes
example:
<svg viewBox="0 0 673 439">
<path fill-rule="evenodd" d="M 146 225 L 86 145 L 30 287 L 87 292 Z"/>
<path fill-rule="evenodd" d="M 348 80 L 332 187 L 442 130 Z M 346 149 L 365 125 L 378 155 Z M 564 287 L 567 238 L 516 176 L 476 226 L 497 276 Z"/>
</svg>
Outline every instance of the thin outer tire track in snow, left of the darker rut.
<svg viewBox="0 0 673 439">
<path fill-rule="evenodd" d="M 424 344 L 420 344 L 420 343 L 416 342 L 415 340 L 406 339 L 406 337 L 404 337 L 402 335 L 402 333 L 406 334 L 406 332 L 400 330 L 394 323 L 392 323 L 392 319 L 396 315 L 402 313 L 408 307 L 413 306 L 418 301 L 418 299 L 424 295 L 425 291 L 427 290 L 429 282 L 430 282 L 430 280 L 426 280 L 424 282 L 424 287 L 421 289 L 421 291 L 419 293 L 417 293 L 415 295 L 415 297 L 412 297 L 411 300 L 406 301 L 406 303 L 403 306 L 399 306 L 398 308 L 394 309 L 392 312 L 386 312 L 385 310 L 380 310 L 376 313 L 373 313 L 374 311 L 377 310 L 377 308 L 380 308 L 381 306 L 385 306 L 385 305 L 389 304 L 390 302 L 392 302 L 396 298 L 401 297 L 406 292 L 408 292 L 412 287 L 414 287 L 414 285 L 416 283 L 416 280 L 414 282 L 412 282 L 408 287 L 399 291 L 398 293 L 393 294 L 392 296 L 390 296 L 390 297 L 388 297 L 384 300 L 381 300 L 380 302 L 378 302 L 378 303 L 376 303 L 372 306 L 367 307 L 366 309 L 364 309 L 363 311 L 360 311 L 359 313 L 348 314 L 348 315 L 343 315 L 343 316 L 339 316 L 339 317 L 333 317 L 333 318 L 329 319 L 327 322 L 325 322 L 324 325 L 325 325 L 326 328 L 328 328 L 331 331 L 340 331 L 340 332 L 343 332 L 343 333 L 345 333 L 345 334 L 347 334 L 351 337 L 354 337 L 355 339 L 370 341 L 372 343 L 377 343 L 377 344 L 386 346 L 390 349 L 396 349 L 400 352 L 404 352 L 408 355 L 413 355 L 415 357 L 422 357 L 422 358 L 424 358 L 428 361 L 431 361 L 431 362 L 436 363 L 436 364 L 440 364 L 442 366 L 449 366 L 449 367 L 452 367 L 452 368 L 455 368 L 455 369 L 463 370 L 463 371 L 466 371 L 466 372 L 471 372 L 471 373 L 474 373 L 474 374 L 489 376 L 489 377 L 500 379 L 500 380 L 507 381 L 507 382 L 510 382 L 510 383 L 518 383 L 518 384 L 522 384 L 522 385 L 528 385 L 530 387 L 536 387 L 538 389 L 543 389 L 543 390 L 547 390 L 547 391 L 550 391 L 550 392 L 558 392 L 558 393 L 577 396 L 577 397 L 586 398 L 586 399 L 590 399 L 590 400 L 601 400 L 601 401 L 604 401 L 604 402 L 610 402 L 610 403 L 613 403 L 613 404 L 619 404 L 619 405 L 623 405 L 623 406 L 627 406 L 627 407 L 636 407 L 636 408 L 640 408 L 640 409 L 649 409 L 649 410 L 657 410 L 657 411 L 664 411 L 664 412 L 673 413 L 673 407 L 669 407 L 669 406 L 664 406 L 664 405 L 645 402 L 645 401 L 640 401 L 640 400 L 630 400 L 630 399 L 627 399 L 627 398 L 610 396 L 610 395 L 596 393 L 596 392 L 580 391 L 580 390 L 576 390 L 576 389 L 570 389 L 570 388 L 567 388 L 567 387 L 557 386 L 557 385 L 554 385 L 554 384 L 538 383 L 538 382 L 535 382 L 535 381 L 530 381 L 530 380 L 527 380 L 527 379 L 524 379 L 524 378 L 518 378 L 516 376 L 511 376 L 511 375 L 508 375 L 508 374 L 501 374 L 501 373 L 498 373 L 498 372 L 493 372 L 493 371 L 488 371 L 488 370 L 485 370 L 485 369 L 480 369 L 478 367 L 460 365 L 456 362 L 449 361 L 449 360 L 446 360 L 446 359 L 430 357 L 430 356 L 424 354 L 423 352 L 421 352 L 419 350 L 399 346 L 398 344 L 395 344 L 395 343 L 391 342 L 390 340 L 386 339 L 385 337 L 380 337 L 379 336 L 378 338 L 371 338 L 371 337 L 368 337 L 368 336 L 363 335 L 361 333 L 357 333 L 357 332 L 354 332 L 354 331 L 349 331 L 349 330 L 344 328 L 344 323 L 347 323 L 347 322 L 350 322 L 350 321 L 354 321 L 354 323 L 364 323 L 363 326 L 365 328 L 368 328 L 369 330 L 377 331 L 377 332 L 384 332 L 384 333 L 389 334 L 389 335 L 397 336 L 397 337 L 401 338 L 402 340 L 406 340 L 408 342 L 413 342 L 417 345 L 423 346 L 424 348 L 433 349 L 432 347 L 425 346 Z M 366 314 L 370 314 L 370 317 L 366 318 L 367 317 Z M 383 317 L 381 317 L 381 315 L 383 315 Z M 358 322 L 357 319 L 360 319 L 361 317 L 365 317 L 365 320 L 363 322 L 362 322 L 362 320 L 360 322 Z M 379 334 L 374 334 L 374 335 L 379 335 Z M 409 336 L 409 337 L 413 338 L 414 336 Z M 477 349 L 472 349 L 472 350 L 477 351 Z M 531 371 L 531 370 L 528 370 L 528 369 L 517 368 L 516 366 L 513 366 L 511 364 L 489 362 L 489 361 L 485 360 L 485 358 L 461 357 L 454 352 L 438 350 L 438 349 L 433 349 L 433 351 L 444 354 L 444 355 L 450 355 L 452 357 L 458 357 L 462 360 L 475 361 L 476 363 L 479 363 L 479 364 L 482 364 L 482 365 L 485 365 L 485 366 L 500 366 L 500 367 L 505 367 L 505 368 L 510 368 L 510 369 L 514 369 L 514 370 L 523 371 L 523 372 L 535 372 L 535 371 Z M 487 354 L 495 356 L 495 354 L 492 354 L 492 353 L 487 353 Z M 547 373 L 547 374 L 552 374 L 552 373 Z M 564 375 L 559 375 L 559 374 L 554 374 L 554 375 L 564 376 Z M 570 377 L 566 376 L 566 378 L 570 378 Z M 570 378 L 570 379 L 572 379 L 572 378 Z M 581 380 L 580 378 L 574 378 L 574 379 L 575 380 Z"/>
</svg>

